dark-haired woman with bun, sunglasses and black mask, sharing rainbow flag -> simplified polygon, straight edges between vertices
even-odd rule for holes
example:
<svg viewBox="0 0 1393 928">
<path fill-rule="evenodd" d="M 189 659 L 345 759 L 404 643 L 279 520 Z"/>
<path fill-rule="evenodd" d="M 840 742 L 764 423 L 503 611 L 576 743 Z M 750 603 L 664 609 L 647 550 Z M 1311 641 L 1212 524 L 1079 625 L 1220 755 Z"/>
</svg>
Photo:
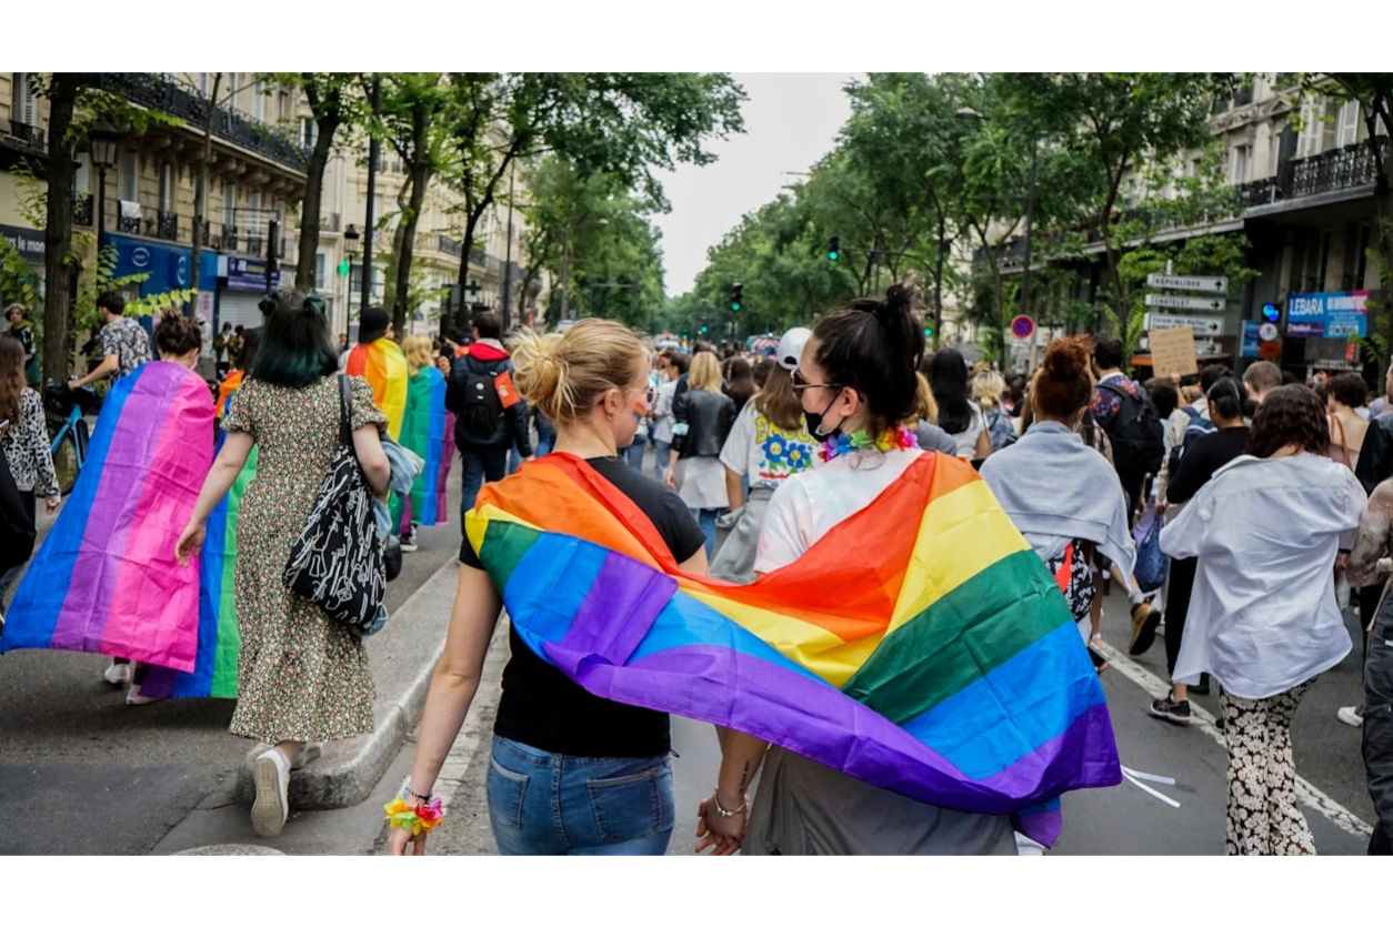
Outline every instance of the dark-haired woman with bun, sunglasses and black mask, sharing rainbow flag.
<svg viewBox="0 0 1393 928">
<path fill-rule="evenodd" d="M 756 575 L 802 557 L 896 486 L 925 454 L 903 426 L 918 415 L 915 367 L 924 353 L 912 296 L 910 288 L 894 287 L 885 301 L 858 299 L 818 321 L 793 387 L 808 431 L 823 442 L 825 463 L 791 474 L 775 491 L 759 537 Z M 936 461 L 951 459 L 937 455 Z M 918 522 L 922 513 L 894 518 Z M 837 595 L 830 579 L 826 594 Z M 766 760 L 765 749 L 763 742 L 738 732 L 723 740 L 716 793 L 702 803 L 699 833 L 715 836 L 724 853 L 741 842 L 744 857 L 755 860 L 1017 853 L 1007 815 L 919 803 L 780 747 L 769 749 Z M 745 793 L 762 762 L 751 810 Z"/>
</svg>

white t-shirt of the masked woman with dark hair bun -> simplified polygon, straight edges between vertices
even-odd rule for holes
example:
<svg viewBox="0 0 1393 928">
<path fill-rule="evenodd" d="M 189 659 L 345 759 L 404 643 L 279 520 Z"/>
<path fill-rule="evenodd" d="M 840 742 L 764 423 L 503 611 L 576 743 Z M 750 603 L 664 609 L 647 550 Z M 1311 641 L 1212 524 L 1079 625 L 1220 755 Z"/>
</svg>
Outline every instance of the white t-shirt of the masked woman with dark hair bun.
<svg viewBox="0 0 1393 928">
<path fill-rule="evenodd" d="M 765 513 L 755 573 L 797 561 L 822 536 L 871 505 L 922 454 L 918 448 L 850 454 L 784 480 Z"/>
</svg>

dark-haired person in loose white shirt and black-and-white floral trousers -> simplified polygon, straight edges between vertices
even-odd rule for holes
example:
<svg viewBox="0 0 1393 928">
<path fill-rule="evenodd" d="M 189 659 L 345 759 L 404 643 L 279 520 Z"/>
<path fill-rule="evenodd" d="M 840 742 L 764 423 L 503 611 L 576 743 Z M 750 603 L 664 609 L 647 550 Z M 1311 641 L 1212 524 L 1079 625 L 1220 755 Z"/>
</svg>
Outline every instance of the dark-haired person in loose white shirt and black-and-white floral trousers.
<svg viewBox="0 0 1393 928">
<path fill-rule="evenodd" d="M 1367 495 L 1329 459 L 1325 406 L 1279 387 L 1258 408 L 1248 454 L 1222 467 L 1160 533 L 1199 558 L 1174 680 L 1223 687 L 1230 857 L 1302 857 L 1315 840 L 1297 808 L 1291 717 L 1353 644 L 1334 565 L 1354 544 Z"/>
</svg>

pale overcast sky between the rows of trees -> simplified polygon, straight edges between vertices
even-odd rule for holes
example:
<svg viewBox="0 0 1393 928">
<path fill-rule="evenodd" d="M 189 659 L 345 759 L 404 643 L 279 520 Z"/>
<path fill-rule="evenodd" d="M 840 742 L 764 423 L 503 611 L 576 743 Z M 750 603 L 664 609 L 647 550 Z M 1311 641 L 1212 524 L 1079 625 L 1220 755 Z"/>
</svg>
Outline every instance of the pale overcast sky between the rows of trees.
<svg viewBox="0 0 1393 928">
<path fill-rule="evenodd" d="M 692 288 L 706 249 L 832 150 L 851 114 L 841 88 L 861 71 L 736 71 L 745 132 L 710 146 L 715 164 L 662 175 L 673 211 L 657 217 L 669 295 Z"/>
</svg>

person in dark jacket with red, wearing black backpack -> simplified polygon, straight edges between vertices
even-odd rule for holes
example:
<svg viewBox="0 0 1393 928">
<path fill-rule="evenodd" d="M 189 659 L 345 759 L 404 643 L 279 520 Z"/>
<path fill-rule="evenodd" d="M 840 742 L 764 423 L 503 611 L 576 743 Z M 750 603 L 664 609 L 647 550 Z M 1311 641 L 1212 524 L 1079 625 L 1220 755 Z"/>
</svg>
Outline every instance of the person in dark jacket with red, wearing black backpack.
<svg viewBox="0 0 1393 928">
<path fill-rule="evenodd" d="M 461 531 L 462 513 L 474 509 L 485 481 L 508 476 L 513 442 L 524 463 L 534 458 L 527 401 L 513 385 L 513 362 L 503 349 L 501 335 L 503 321 L 497 313 L 483 312 L 474 317 L 474 344 L 456 359 L 444 394 L 446 409 L 454 413 L 454 444 L 460 448 Z"/>
</svg>

